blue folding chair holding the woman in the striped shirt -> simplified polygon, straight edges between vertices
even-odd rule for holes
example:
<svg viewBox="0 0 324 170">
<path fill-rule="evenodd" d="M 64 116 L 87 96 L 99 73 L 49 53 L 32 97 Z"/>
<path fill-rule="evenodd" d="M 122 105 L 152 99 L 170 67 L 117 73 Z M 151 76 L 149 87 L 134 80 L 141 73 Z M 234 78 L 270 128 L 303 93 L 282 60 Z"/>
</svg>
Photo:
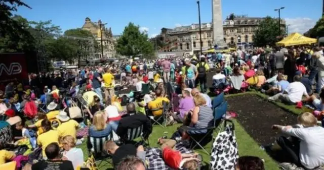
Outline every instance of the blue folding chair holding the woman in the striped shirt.
<svg viewBox="0 0 324 170">
<path fill-rule="evenodd" d="M 223 124 L 225 122 L 224 120 L 226 120 L 225 119 L 226 110 L 227 110 L 227 101 L 223 101 L 219 106 L 215 107 L 213 110 L 214 120 L 212 120 L 212 121 L 214 121 L 214 124 L 212 127 L 192 130 L 192 131 L 206 131 L 206 133 L 190 134 L 190 132 L 189 133 L 187 132 L 187 134 L 190 136 L 190 148 L 191 149 L 195 148 L 196 146 L 199 146 L 207 154 L 209 154 L 209 152 L 206 151 L 206 149 L 203 147 L 203 145 L 201 145 L 201 142 L 206 140 L 207 137 L 213 137 L 213 133 L 214 133 L 215 129 L 219 128 L 219 131 L 217 132 L 217 134 L 222 130 Z"/>
</svg>

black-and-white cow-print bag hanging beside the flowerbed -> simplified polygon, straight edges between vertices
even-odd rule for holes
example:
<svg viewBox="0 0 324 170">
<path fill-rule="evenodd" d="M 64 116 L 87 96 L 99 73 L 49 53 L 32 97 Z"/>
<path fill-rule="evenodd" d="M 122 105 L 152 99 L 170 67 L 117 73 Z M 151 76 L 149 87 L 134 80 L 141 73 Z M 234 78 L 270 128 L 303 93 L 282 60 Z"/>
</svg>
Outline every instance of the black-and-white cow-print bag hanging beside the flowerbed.
<svg viewBox="0 0 324 170">
<path fill-rule="evenodd" d="M 234 124 L 226 125 L 226 130 L 217 135 L 212 148 L 211 170 L 234 170 L 238 159 Z"/>
</svg>

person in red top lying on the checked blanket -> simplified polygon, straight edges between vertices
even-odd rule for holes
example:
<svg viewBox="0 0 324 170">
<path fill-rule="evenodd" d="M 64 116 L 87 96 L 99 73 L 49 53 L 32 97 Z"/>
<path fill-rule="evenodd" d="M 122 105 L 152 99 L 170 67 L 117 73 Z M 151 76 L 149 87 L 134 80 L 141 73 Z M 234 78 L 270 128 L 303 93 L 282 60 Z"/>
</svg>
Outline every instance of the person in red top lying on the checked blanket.
<svg viewBox="0 0 324 170">
<path fill-rule="evenodd" d="M 172 139 L 158 139 L 161 145 L 162 158 L 165 163 L 173 169 L 187 169 L 196 170 L 200 160 L 196 158 L 197 153 L 194 154 L 181 154 L 180 151 L 175 150 L 177 141 Z"/>
</svg>

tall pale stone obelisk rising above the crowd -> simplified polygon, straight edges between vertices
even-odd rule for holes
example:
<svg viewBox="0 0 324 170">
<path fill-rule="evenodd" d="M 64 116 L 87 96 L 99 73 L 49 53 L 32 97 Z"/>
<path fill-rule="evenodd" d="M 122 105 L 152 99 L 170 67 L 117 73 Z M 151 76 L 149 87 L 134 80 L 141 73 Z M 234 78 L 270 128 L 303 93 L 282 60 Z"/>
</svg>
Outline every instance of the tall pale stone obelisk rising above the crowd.
<svg viewBox="0 0 324 170">
<path fill-rule="evenodd" d="M 222 2 L 221 0 L 212 0 L 213 15 L 213 44 L 219 48 L 226 47 L 223 35 L 223 19 L 222 19 Z"/>
</svg>

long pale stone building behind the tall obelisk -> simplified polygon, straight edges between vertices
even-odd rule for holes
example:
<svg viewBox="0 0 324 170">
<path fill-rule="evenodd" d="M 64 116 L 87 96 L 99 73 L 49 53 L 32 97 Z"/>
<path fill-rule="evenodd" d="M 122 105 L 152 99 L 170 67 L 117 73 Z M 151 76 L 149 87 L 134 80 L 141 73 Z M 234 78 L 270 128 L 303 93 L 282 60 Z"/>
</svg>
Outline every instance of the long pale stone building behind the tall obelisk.
<svg viewBox="0 0 324 170">
<path fill-rule="evenodd" d="M 229 47 L 253 47 L 253 34 L 264 18 L 235 17 L 233 20 L 223 22 L 224 41 Z M 285 20 L 281 20 L 282 28 L 286 28 Z M 164 42 L 159 51 L 200 51 L 199 24 L 176 27 L 174 29 L 162 28 L 156 37 Z M 213 48 L 212 23 L 201 24 L 201 38 L 203 50 Z"/>
</svg>

